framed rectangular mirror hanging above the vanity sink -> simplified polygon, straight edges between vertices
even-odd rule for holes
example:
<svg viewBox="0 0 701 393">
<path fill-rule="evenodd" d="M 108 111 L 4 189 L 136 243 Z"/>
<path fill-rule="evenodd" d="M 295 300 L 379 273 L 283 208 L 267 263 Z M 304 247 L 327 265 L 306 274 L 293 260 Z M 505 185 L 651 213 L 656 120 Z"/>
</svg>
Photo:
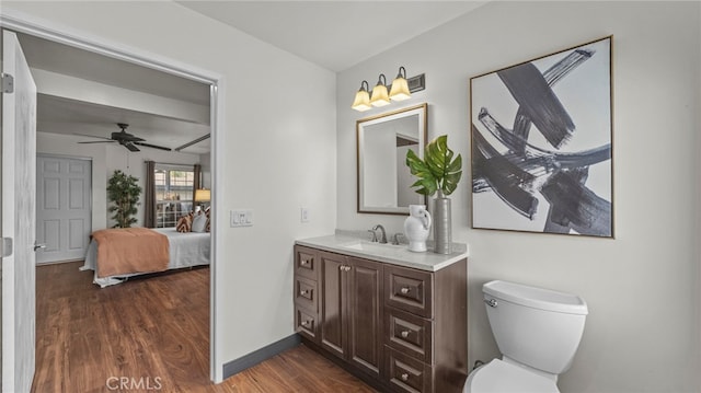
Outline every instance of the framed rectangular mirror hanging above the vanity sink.
<svg viewBox="0 0 701 393">
<path fill-rule="evenodd" d="M 427 107 L 424 103 L 357 120 L 358 212 L 407 215 L 409 205 L 426 204 L 411 188 L 416 180 L 405 161 L 409 149 L 424 155 Z"/>
</svg>

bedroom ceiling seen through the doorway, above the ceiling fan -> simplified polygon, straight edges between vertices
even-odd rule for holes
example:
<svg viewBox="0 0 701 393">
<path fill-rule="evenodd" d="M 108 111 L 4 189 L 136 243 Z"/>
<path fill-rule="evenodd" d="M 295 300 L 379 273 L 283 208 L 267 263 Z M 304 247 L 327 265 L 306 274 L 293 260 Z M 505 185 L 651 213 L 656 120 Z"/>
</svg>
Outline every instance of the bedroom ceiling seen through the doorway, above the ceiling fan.
<svg viewBox="0 0 701 393">
<path fill-rule="evenodd" d="M 95 96 L 107 96 L 113 93 L 96 91 L 101 88 L 116 86 L 125 91 L 176 100 L 182 102 L 183 106 L 192 105 L 199 108 L 209 106 L 209 86 L 206 84 L 26 34 L 18 34 L 18 37 L 31 68 L 99 82 L 99 84 L 91 84 L 91 89 L 94 90 L 91 94 Z M 36 78 L 38 71 L 34 73 Z M 95 138 L 76 139 L 77 141 L 97 141 L 100 138 L 110 137 L 112 132 L 119 131 L 117 123 L 125 123 L 129 125 L 127 132 L 146 139 L 146 143 L 175 149 L 210 131 L 207 120 L 194 122 L 192 117 L 102 105 L 59 94 L 45 94 L 43 88 L 37 81 L 39 92 L 37 131 L 39 132 L 88 135 Z M 188 112 L 182 112 L 182 114 Z M 183 149 L 182 152 L 203 154 L 209 150 L 210 142 L 207 139 Z"/>
</svg>

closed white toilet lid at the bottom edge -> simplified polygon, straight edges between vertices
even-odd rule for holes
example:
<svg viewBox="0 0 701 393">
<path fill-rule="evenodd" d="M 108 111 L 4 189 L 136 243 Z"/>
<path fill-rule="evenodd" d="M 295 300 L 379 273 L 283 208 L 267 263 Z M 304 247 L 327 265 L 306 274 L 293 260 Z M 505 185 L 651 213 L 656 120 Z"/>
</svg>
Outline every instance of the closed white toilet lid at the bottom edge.
<svg viewBox="0 0 701 393">
<path fill-rule="evenodd" d="M 472 371 L 466 383 L 470 393 L 560 393 L 555 381 L 499 359 Z"/>
</svg>

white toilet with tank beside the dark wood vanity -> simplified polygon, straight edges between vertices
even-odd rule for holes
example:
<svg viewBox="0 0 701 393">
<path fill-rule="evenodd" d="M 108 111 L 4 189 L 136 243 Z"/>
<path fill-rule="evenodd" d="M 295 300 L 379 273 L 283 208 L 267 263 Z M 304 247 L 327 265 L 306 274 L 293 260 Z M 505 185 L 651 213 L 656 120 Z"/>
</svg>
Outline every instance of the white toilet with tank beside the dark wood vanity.
<svg viewBox="0 0 701 393">
<path fill-rule="evenodd" d="M 507 281 L 482 287 L 492 333 L 502 352 L 473 370 L 463 393 L 560 392 L 588 313 L 584 299 Z"/>
</svg>

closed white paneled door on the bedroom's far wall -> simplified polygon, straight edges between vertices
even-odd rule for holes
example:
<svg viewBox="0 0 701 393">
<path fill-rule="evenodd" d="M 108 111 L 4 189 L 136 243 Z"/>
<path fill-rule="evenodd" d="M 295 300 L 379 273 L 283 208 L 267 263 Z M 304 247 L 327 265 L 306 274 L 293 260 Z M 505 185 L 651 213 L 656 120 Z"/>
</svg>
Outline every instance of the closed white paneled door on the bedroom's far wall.
<svg viewBox="0 0 701 393">
<path fill-rule="evenodd" d="M 90 240 L 91 161 L 36 158 L 36 241 L 45 244 L 36 263 L 85 257 Z"/>
</svg>

